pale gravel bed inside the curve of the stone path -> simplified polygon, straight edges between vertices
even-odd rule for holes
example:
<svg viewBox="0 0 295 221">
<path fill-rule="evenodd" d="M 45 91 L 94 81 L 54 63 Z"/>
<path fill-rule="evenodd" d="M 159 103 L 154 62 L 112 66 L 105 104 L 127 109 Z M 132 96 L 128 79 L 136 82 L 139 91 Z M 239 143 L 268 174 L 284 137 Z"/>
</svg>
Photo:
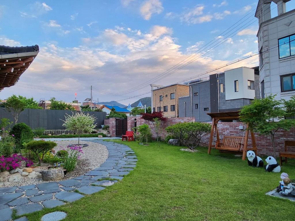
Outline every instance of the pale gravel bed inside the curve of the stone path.
<svg viewBox="0 0 295 221">
<path fill-rule="evenodd" d="M 54 148 L 55 151 L 66 148 L 69 144 L 77 144 L 78 141 L 54 141 L 57 146 Z M 109 152 L 106 146 L 94 142 L 80 141 L 81 144 L 88 144 L 88 146 L 83 147 L 83 154 L 78 160 L 78 164 L 74 171 L 67 173 L 65 175 L 66 179 L 71 179 L 85 174 L 87 171 L 93 170 L 99 167 L 108 158 Z M 18 182 L 0 182 L 0 187 L 12 187 L 12 186 L 25 186 L 30 184 L 46 183 L 47 181 L 42 180 L 42 178 L 27 178 Z M 52 181 L 51 181 L 52 182 Z"/>
</svg>

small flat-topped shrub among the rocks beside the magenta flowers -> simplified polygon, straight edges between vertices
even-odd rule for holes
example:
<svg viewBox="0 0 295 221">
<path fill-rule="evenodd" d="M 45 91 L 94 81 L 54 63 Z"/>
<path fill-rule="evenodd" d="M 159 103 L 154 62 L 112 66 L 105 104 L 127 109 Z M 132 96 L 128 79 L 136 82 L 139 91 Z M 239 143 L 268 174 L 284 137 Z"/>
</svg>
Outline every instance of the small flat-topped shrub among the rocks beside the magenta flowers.
<svg viewBox="0 0 295 221">
<path fill-rule="evenodd" d="M 30 141 L 29 143 L 26 144 L 26 148 L 28 150 L 31 150 L 36 154 L 38 157 L 38 164 L 40 164 L 43 161 L 43 157 L 47 151 L 50 151 L 56 146 L 56 143 L 52 141 Z M 42 153 L 42 155 L 40 155 Z"/>
</svg>

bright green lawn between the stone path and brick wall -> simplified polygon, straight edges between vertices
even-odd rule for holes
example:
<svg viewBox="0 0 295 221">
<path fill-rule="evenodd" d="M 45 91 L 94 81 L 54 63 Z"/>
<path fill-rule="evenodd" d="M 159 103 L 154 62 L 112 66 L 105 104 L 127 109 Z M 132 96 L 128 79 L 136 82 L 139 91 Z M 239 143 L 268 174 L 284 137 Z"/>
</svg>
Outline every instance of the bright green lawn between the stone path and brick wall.
<svg viewBox="0 0 295 221">
<path fill-rule="evenodd" d="M 116 142 L 129 145 L 138 157 L 130 174 L 103 191 L 35 212 L 27 215 L 28 219 L 39 221 L 53 211 L 67 212 L 65 221 L 270 221 L 294 217 L 294 202 L 265 195 L 278 186 L 280 173 L 252 168 L 241 158 L 215 150 L 208 155 L 207 148 L 189 153 L 164 143 Z M 294 161 L 284 164 L 282 172 L 294 178 L 294 165 Z"/>
</svg>

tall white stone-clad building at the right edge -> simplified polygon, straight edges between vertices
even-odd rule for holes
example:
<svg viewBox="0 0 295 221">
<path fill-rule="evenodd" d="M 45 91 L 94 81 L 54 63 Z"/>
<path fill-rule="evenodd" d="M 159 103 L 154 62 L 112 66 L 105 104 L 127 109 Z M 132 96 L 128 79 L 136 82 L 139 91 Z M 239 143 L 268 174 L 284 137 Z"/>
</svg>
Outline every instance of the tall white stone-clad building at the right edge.
<svg viewBox="0 0 295 221">
<path fill-rule="evenodd" d="M 276 94 L 277 99 L 295 95 L 295 10 L 286 12 L 290 0 L 259 0 L 258 47 L 261 97 Z M 276 10 L 278 16 L 271 18 Z"/>
</svg>

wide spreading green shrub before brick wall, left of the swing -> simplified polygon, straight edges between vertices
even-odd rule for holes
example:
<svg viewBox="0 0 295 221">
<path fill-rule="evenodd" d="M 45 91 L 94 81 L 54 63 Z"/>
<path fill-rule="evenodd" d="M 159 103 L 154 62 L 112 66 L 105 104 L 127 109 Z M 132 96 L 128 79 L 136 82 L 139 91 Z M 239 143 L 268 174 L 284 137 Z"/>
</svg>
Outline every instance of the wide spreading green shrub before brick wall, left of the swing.
<svg viewBox="0 0 295 221">
<path fill-rule="evenodd" d="M 190 149 L 195 149 L 199 146 L 201 138 L 210 132 L 211 125 L 209 123 L 190 122 L 176 123 L 166 127 L 169 135 L 178 139 L 181 145 L 187 146 Z"/>
</svg>

